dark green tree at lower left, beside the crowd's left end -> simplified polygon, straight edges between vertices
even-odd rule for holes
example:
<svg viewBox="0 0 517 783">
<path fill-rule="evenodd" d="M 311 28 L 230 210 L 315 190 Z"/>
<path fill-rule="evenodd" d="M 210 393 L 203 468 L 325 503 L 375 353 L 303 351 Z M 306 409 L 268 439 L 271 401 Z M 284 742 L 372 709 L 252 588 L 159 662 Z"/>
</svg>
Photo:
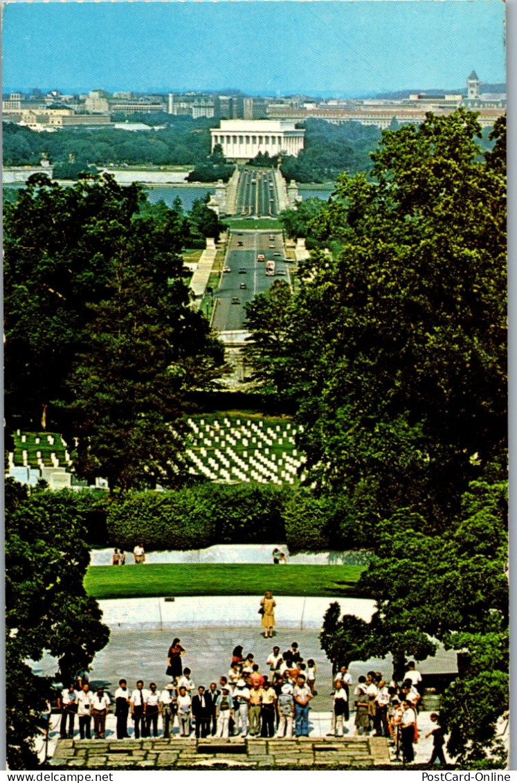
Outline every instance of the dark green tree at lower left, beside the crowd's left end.
<svg viewBox="0 0 517 783">
<path fill-rule="evenodd" d="M 5 694 L 11 769 L 38 765 L 34 738 L 45 728 L 43 713 L 52 693 L 52 678 L 35 675 L 27 659 L 39 661 L 48 651 L 59 659 L 60 680 L 67 685 L 108 641 L 102 612 L 83 586 L 89 563 L 84 521 L 74 493 L 36 489 L 29 495 L 26 487 L 7 480 Z"/>
</svg>

